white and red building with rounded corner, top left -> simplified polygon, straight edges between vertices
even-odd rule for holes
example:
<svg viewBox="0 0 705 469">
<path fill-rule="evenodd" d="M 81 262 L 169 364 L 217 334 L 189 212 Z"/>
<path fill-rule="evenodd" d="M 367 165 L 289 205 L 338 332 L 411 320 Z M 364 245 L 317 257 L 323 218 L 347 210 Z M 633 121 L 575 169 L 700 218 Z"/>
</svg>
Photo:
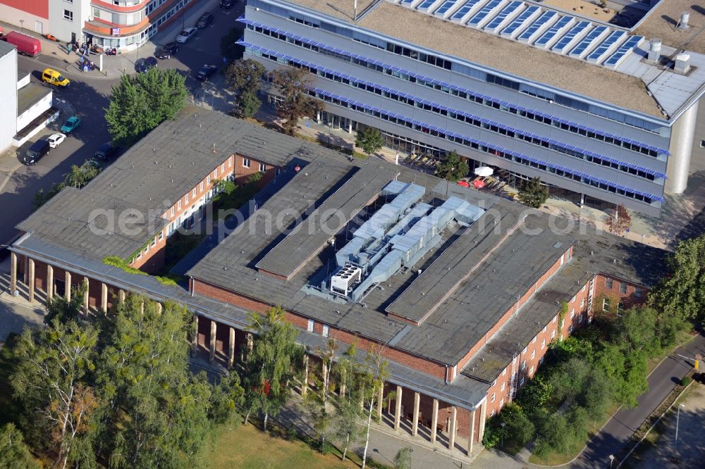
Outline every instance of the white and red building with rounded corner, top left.
<svg viewBox="0 0 705 469">
<path fill-rule="evenodd" d="M 61 41 L 130 51 L 192 4 L 194 0 L 0 0 L 0 18 Z"/>
</svg>

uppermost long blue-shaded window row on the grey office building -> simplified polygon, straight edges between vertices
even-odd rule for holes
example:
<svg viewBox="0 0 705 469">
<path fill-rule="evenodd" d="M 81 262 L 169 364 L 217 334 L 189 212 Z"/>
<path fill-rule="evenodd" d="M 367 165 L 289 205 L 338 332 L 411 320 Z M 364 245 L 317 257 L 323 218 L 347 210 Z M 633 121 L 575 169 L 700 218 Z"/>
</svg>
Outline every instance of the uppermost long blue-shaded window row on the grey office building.
<svg viewBox="0 0 705 469">
<path fill-rule="evenodd" d="M 505 112 L 512 113 L 515 115 L 521 115 L 524 118 L 534 120 L 538 123 L 551 125 L 552 127 L 556 127 L 561 130 L 567 130 L 568 132 L 572 132 L 577 135 L 582 135 L 583 137 L 587 137 L 589 139 L 595 139 L 595 140 L 599 140 L 600 142 L 605 142 L 608 144 L 613 144 L 615 146 L 620 146 L 621 148 L 635 151 L 639 154 L 644 154 L 647 156 L 651 156 L 653 158 L 657 158 L 659 155 L 659 152 L 657 151 L 657 149 L 654 149 L 654 147 L 644 146 L 642 144 L 639 144 L 638 142 L 634 142 L 629 139 L 624 139 L 623 137 L 617 137 L 615 135 L 608 134 L 607 132 L 599 132 L 596 130 L 591 130 L 588 127 L 585 127 L 584 125 L 578 125 L 577 123 L 571 123 L 570 121 L 556 118 L 553 115 L 539 113 L 538 111 L 533 111 L 533 110 L 530 110 L 527 108 L 523 108 L 522 106 L 506 103 L 505 101 L 501 101 L 499 99 L 494 99 L 494 98 L 491 98 L 490 96 L 486 96 L 484 94 L 472 92 L 469 89 L 465 89 L 462 87 L 455 87 L 455 86 L 447 87 L 447 86 L 441 85 L 440 82 L 438 82 L 437 80 L 433 80 L 431 78 L 421 77 L 420 75 L 415 75 L 415 76 L 408 75 L 406 73 L 402 73 L 402 71 L 400 71 L 396 67 L 391 67 L 391 66 L 387 66 L 387 65 L 385 65 L 385 66 L 379 65 L 379 63 L 372 63 L 371 61 L 366 61 L 366 60 L 364 60 L 364 58 L 360 58 L 360 57 L 351 57 L 350 54 L 348 54 L 345 51 L 340 51 L 340 49 L 336 49 L 335 51 L 331 51 L 331 50 L 326 49 L 324 47 L 313 46 L 313 45 L 305 42 L 306 39 L 303 39 L 303 38 L 302 38 L 303 40 L 294 39 L 293 37 L 290 37 L 290 36 L 283 34 L 281 32 L 269 30 L 266 27 L 257 27 L 254 25 L 247 25 L 247 28 L 250 30 L 256 31 L 256 32 L 260 32 L 264 35 L 274 37 L 274 38 L 279 39 L 283 42 L 289 42 L 290 44 L 295 44 L 296 46 L 300 46 L 305 49 L 317 51 L 320 54 L 332 56 L 332 57 L 338 58 L 338 59 L 346 61 L 346 62 L 352 61 L 353 63 L 355 63 L 355 65 L 361 65 L 363 67 L 375 70 L 379 73 L 386 73 L 387 75 L 397 77 L 400 80 L 405 80 L 405 81 L 412 82 L 412 83 L 419 83 L 419 85 L 424 85 L 426 87 L 436 89 L 437 91 L 440 91 L 440 92 L 444 92 L 447 94 L 453 94 L 453 96 L 458 96 L 462 99 L 467 99 L 468 101 L 473 101 L 473 102 L 476 102 L 479 104 L 484 104 L 485 106 L 499 109 L 501 111 L 505 111 Z M 493 76 L 493 75 L 488 75 L 488 76 Z M 498 83 L 501 83 L 501 80 L 503 80 L 503 79 L 500 79 L 500 77 L 496 77 L 496 80 L 492 80 L 491 82 L 498 84 Z M 488 81 L 490 81 L 490 80 L 488 80 Z M 666 153 L 666 150 L 662 150 L 661 152 Z"/>
</svg>

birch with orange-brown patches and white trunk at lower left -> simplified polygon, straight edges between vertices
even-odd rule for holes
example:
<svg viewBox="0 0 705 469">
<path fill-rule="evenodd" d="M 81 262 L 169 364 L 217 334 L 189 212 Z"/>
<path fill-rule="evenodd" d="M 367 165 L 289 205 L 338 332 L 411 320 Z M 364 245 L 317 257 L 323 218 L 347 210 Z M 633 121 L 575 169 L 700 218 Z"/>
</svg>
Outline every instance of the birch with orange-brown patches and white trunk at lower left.
<svg viewBox="0 0 705 469">
<path fill-rule="evenodd" d="M 17 345 L 18 370 L 11 377 L 14 395 L 25 404 L 37 441 L 56 449 L 56 464 L 66 468 L 74 443 L 90 430 L 99 407 L 91 387 L 82 380 L 94 369 L 98 331 L 55 319 L 35 334 L 25 329 Z"/>
</svg>

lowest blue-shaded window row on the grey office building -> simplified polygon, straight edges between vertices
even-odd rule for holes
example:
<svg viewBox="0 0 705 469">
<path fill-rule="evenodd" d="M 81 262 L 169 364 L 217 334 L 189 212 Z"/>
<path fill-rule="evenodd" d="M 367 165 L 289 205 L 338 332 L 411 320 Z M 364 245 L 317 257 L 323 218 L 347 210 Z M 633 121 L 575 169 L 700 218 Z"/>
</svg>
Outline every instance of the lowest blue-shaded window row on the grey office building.
<svg viewBox="0 0 705 469">
<path fill-rule="evenodd" d="M 372 115 L 376 118 L 380 118 L 382 120 L 386 120 L 388 122 L 394 123 L 396 125 L 401 125 L 403 127 L 407 127 L 412 130 L 417 130 L 418 132 L 422 132 L 422 133 L 431 135 L 433 137 L 446 139 L 450 142 L 454 142 L 456 144 L 461 144 L 463 146 L 467 146 L 467 147 L 472 148 L 474 150 L 482 151 L 484 153 L 488 153 L 493 156 L 498 156 L 499 158 L 505 158 L 505 159 L 508 159 L 508 160 L 513 161 L 515 163 L 520 163 L 522 165 L 530 166 L 532 168 L 535 168 L 535 169 L 538 169 L 541 171 L 546 171 L 548 173 L 551 173 L 551 174 L 554 174 L 554 175 L 557 175 L 560 177 L 565 177 L 570 180 L 582 182 L 582 184 L 590 185 L 591 187 L 596 187 L 596 188 L 602 189 L 604 191 L 612 192 L 613 194 L 619 194 L 621 196 L 629 197 L 630 199 L 643 201 L 643 202 L 646 202 L 646 204 L 651 204 L 654 201 L 661 200 L 661 198 L 658 196 L 654 196 L 651 194 L 637 193 L 637 192 L 634 192 L 631 189 L 628 189 L 626 187 L 618 187 L 618 186 L 612 185 L 611 183 L 606 182 L 606 181 L 595 180 L 589 175 L 585 175 L 583 173 L 578 173 L 577 171 L 569 170 L 567 168 L 559 168 L 559 167 L 556 167 L 555 165 L 548 165 L 548 163 L 538 161 L 534 158 L 530 158 L 530 157 L 522 155 L 522 154 L 517 154 L 514 151 L 500 149 L 496 146 L 489 146 L 489 144 L 484 144 L 483 142 L 479 142 L 475 139 L 471 139 L 470 137 L 463 137 L 461 135 L 457 135 L 454 133 L 451 135 L 450 132 L 445 132 L 445 131 L 438 129 L 436 127 L 431 128 L 431 126 L 429 126 L 429 125 L 425 125 L 423 123 L 417 123 L 415 121 L 404 118 L 403 116 L 391 115 L 390 113 L 386 113 L 385 111 L 380 111 L 379 109 L 370 108 L 369 106 L 360 105 L 360 104 L 357 104 L 354 102 L 350 103 L 349 100 L 347 100 L 347 99 L 333 97 L 333 96 L 331 96 L 330 93 L 325 92 L 324 90 L 321 90 L 321 89 L 312 90 L 309 92 L 309 94 L 311 94 L 312 96 L 316 96 L 318 99 L 321 99 L 321 101 L 326 101 L 331 104 L 336 104 L 337 106 L 350 108 L 350 109 L 353 109 L 353 111 L 366 113 L 366 114 Z"/>
</svg>

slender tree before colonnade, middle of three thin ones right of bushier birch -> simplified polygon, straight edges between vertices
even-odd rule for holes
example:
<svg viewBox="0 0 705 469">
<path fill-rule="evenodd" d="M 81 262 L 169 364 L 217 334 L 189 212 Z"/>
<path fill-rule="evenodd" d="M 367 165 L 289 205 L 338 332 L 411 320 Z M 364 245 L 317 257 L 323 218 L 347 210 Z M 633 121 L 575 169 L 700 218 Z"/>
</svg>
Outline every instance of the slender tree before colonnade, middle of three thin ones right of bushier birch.
<svg viewBox="0 0 705 469">
<path fill-rule="evenodd" d="M 343 461 L 348 454 L 350 444 L 357 442 L 362 435 L 362 418 L 364 409 L 360 401 L 364 399 L 364 389 L 360 387 L 360 363 L 357 362 L 355 344 L 348 347 L 343 358 L 338 361 L 336 377 L 340 393 L 333 399 L 336 408 L 336 437 L 343 440 Z"/>
</svg>

